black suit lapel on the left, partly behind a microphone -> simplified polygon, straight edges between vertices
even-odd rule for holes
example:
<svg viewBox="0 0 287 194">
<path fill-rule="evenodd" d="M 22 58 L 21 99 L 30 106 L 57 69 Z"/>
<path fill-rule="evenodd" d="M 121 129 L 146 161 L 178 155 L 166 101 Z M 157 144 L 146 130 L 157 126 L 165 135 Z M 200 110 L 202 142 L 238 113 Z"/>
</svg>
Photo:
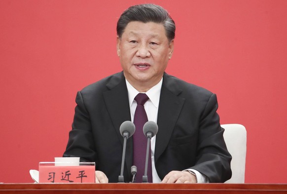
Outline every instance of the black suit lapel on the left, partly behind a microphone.
<svg viewBox="0 0 287 194">
<path fill-rule="evenodd" d="M 109 116 L 118 135 L 119 141 L 123 145 L 123 137 L 120 134 L 120 125 L 126 121 L 131 120 L 130 106 L 126 81 L 123 73 L 118 73 L 112 76 L 107 83 L 109 91 L 104 93 L 105 104 L 108 109 Z M 130 174 L 130 167 L 133 161 L 133 141 L 129 138 L 126 147 L 125 163 Z"/>
</svg>

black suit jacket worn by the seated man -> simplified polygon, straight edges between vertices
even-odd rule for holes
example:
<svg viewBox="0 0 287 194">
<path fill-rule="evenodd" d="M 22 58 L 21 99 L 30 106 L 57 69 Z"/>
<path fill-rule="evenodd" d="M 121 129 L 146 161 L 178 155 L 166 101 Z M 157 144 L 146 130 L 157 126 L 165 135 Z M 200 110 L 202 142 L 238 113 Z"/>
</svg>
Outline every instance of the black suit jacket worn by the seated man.
<svg viewBox="0 0 287 194">
<path fill-rule="evenodd" d="M 95 161 L 109 182 L 118 182 L 123 137 L 122 122 L 131 120 L 127 86 L 123 73 L 93 83 L 76 96 L 72 130 L 64 156 Z M 161 179 L 172 170 L 192 168 L 224 182 L 231 177 L 231 155 L 216 113 L 216 95 L 167 75 L 158 108 L 155 167 Z M 144 153 L 145 154 L 145 153 Z M 124 177 L 129 182 L 133 165 L 133 138 L 127 141 Z"/>
</svg>

